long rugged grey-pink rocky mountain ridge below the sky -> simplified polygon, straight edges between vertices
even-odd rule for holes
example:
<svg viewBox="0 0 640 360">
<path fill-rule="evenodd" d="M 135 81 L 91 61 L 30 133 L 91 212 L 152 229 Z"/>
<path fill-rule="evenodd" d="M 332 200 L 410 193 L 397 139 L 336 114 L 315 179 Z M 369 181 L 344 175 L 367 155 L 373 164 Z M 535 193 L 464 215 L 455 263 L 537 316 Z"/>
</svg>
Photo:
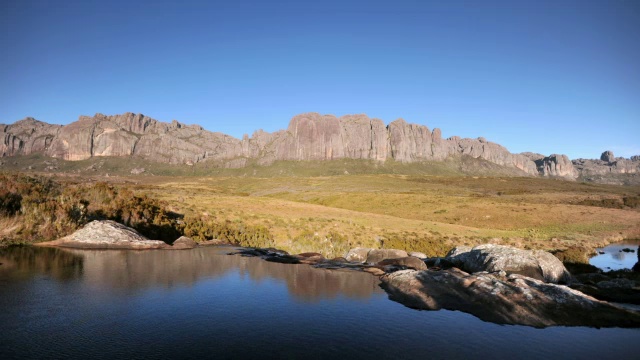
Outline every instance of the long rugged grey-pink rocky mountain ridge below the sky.
<svg viewBox="0 0 640 360">
<path fill-rule="evenodd" d="M 402 119 L 385 125 L 366 115 L 293 117 L 286 130 L 262 130 L 242 139 L 184 125 L 160 122 L 142 114 L 125 113 L 80 118 L 65 126 L 26 118 L 0 125 L 2 157 L 41 153 L 69 161 L 92 157 L 137 157 L 169 164 L 211 162 L 225 168 L 241 168 L 249 161 L 270 165 L 280 160 L 365 159 L 402 163 L 444 161 L 469 156 L 518 170 L 523 175 L 576 179 L 582 173 L 640 173 L 640 159 L 571 162 L 566 155 L 512 154 L 503 146 L 454 136 L 443 139 L 440 129 Z M 580 162 L 581 161 L 581 162 Z M 589 162 L 591 161 L 591 162 Z M 596 162 L 594 162 L 596 161 Z"/>
</svg>

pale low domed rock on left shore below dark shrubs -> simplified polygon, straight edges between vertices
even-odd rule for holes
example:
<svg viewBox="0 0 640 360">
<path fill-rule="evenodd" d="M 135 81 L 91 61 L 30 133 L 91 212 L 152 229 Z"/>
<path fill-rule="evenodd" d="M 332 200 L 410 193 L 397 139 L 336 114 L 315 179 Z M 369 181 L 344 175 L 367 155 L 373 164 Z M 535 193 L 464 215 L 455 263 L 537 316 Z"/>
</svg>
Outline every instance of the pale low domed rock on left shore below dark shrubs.
<svg viewBox="0 0 640 360">
<path fill-rule="evenodd" d="M 149 240 L 134 229 L 111 220 L 95 220 L 61 239 L 38 243 L 84 249 L 164 249 L 163 241 Z"/>
</svg>

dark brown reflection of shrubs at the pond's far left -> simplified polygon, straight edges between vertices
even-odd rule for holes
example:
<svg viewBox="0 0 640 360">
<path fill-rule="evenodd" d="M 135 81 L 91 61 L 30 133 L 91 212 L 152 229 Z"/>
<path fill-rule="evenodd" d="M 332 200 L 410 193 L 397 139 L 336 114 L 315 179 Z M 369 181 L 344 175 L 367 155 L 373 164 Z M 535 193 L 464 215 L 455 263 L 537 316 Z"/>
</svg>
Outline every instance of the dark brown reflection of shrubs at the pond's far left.
<svg viewBox="0 0 640 360">
<path fill-rule="evenodd" d="M 0 278 L 42 274 L 64 281 L 82 276 L 84 258 L 63 249 L 35 246 L 0 248 Z"/>
</svg>

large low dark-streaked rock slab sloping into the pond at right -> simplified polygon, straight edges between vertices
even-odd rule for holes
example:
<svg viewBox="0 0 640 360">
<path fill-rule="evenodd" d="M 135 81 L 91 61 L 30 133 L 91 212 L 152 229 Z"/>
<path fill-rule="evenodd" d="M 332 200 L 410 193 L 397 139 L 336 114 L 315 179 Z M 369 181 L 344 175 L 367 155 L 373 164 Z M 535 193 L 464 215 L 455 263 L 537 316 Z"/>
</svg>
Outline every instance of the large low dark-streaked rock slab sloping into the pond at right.
<svg viewBox="0 0 640 360">
<path fill-rule="evenodd" d="M 391 300 L 422 310 L 463 311 L 497 324 L 534 327 L 639 327 L 640 314 L 596 300 L 567 286 L 526 276 L 459 269 L 402 270 L 385 274 Z"/>
</svg>

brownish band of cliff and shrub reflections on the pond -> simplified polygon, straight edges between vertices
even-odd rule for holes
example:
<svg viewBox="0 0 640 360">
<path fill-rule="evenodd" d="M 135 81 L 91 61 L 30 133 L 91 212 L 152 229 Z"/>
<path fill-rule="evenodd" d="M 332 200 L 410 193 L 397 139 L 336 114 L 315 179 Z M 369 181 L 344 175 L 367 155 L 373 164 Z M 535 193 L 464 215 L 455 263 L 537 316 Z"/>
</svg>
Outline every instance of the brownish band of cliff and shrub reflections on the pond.
<svg viewBox="0 0 640 360">
<path fill-rule="evenodd" d="M 235 248 L 192 250 L 76 250 L 8 248 L 0 252 L 1 272 L 47 274 L 57 280 L 82 278 L 98 288 L 138 290 L 162 286 L 191 286 L 206 278 L 238 272 L 252 281 L 283 281 L 295 298 L 313 302 L 346 296 L 369 298 L 382 293 L 378 279 L 357 271 L 315 269 L 308 265 L 267 262 L 259 258 L 226 255 Z"/>
</svg>

